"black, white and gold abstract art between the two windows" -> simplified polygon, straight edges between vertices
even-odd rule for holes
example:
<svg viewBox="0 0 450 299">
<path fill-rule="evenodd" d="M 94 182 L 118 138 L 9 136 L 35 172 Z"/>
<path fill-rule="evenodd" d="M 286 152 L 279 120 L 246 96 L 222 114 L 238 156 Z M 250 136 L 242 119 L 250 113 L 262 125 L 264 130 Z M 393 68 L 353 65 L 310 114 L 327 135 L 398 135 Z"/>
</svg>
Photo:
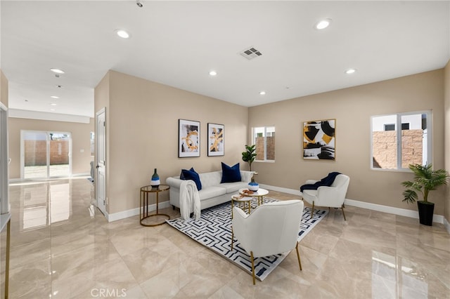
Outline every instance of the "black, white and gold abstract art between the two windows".
<svg viewBox="0 0 450 299">
<path fill-rule="evenodd" d="M 303 158 L 335 160 L 336 120 L 305 121 L 303 123 Z"/>
</svg>

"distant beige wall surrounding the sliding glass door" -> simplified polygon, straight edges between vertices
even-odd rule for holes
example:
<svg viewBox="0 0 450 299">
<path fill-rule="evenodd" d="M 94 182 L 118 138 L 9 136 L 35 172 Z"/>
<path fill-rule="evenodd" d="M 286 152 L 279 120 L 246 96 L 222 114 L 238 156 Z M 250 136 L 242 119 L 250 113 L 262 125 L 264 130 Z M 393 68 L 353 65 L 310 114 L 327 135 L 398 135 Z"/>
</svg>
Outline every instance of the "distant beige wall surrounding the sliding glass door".
<svg viewBox="0 0 450 299">
<path fill-rule="evenodd" d="M 20 131 L 58 131 L 72 133 L 72 174 L 86 174 L 91 171 L 91 139 L 94 120 L 90 124 L 65 121 L 42 121 L 10 117 L 9 122 L 9 178 L 20 178 Z M 84 152 L 80 152 L 84 150 Z"/>
</svg>

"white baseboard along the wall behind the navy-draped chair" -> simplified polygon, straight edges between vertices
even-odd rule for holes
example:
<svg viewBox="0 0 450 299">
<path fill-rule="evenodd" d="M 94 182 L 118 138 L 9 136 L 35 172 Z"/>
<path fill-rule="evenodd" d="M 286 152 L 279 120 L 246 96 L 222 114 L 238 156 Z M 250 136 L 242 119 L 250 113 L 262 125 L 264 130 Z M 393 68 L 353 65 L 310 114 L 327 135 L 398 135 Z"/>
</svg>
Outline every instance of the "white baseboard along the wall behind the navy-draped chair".
<svg viewBox="0 0 450 299">
<path fill-rule="evenodd" d="M 285 192 L 288 194 L 295 194 L 295 195 L 301 195 L 300 190 L 294 190 L 294 189 L 287 189 L 287 188 L 281 188 L 276 186 L 270 186 L 270 185 L 260 185 L 262 188 L 274 190 L 278 192 Z M 383 206 L 380 204 L 371 204 L 364 201 L 357 201 L 354 199 L 345 199 L 345 204 L 347 206 L 356 206 L 358 208 L 367 208 L 368 210 L 373 211 L 379 211 L 384 213 L 390 213 L 395 215 L 401 215 L 406 216 L 410 218 L 419 218 L 419 213 L 417 211 L 407 210 L 406 208 L 394 208 L 392 206 Z M 433 215 L 433 222 L 442 223 L 444 224 L 444 216 L 443 215 Z M 446 220 L 445 220 L 446 221 Z M 445 224 L 444 224 L 445 225 Z M 450 224 L 447 222 L 447 231 L 450 234 Z"/>
</svg>

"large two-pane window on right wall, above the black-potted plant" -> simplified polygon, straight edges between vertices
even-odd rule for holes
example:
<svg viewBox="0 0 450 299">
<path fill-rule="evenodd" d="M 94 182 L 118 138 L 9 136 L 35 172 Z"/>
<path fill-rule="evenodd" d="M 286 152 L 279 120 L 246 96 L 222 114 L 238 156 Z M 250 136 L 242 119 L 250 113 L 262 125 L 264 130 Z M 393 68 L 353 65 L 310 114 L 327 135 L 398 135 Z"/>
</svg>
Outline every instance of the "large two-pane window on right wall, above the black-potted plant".
<svg viewBox="0 0 450 299">
<path fill-rule="evenodd" d="M 431 111 L 371 117 L 371 167 L 404 170 L 409 164 L 430 163 L 431 119 Z"/>
</svg>

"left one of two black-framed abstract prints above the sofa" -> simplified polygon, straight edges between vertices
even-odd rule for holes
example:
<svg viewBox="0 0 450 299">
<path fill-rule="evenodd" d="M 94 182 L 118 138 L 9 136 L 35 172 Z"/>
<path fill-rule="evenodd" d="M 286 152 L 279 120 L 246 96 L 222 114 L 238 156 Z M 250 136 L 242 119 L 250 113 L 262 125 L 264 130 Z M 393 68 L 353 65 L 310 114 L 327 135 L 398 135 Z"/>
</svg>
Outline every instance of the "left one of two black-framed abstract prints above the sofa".
<svg viewBox="0 0 450 299">
<path fill-rule="evenodd" d="M 200 157 L 200 121 L 178 120 L 178 157 Z"/>
</svg>

